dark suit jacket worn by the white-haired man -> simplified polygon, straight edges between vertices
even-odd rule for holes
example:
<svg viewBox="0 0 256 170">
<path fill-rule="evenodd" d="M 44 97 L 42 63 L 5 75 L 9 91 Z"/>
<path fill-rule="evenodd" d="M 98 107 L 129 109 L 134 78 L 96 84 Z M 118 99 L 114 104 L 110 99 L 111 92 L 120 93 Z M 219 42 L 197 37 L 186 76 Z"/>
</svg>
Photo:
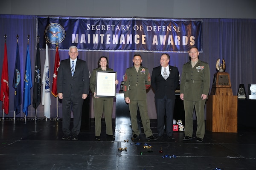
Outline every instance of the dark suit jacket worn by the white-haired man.
<svg viewBox="0 0 256 170">
<path fill-rule="evenodd" d="M 75 98 L 81 98 L 82 94 L 89 94 L 89 70 L 84 60 L 77 59 L 73 77 L 70 58 L 61 61 L 58 69 L 57 92 L 63 93 L 63 98 L 67 98 L 70 97 L 71 89 Z"/>
</svg>

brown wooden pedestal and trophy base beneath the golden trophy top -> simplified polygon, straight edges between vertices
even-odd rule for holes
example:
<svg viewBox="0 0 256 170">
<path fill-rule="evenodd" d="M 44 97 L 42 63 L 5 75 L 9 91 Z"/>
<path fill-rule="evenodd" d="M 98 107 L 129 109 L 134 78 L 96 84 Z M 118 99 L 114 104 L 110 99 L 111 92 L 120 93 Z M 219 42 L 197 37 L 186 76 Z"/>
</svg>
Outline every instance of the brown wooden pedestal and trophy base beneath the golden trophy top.
<svg viewBox="0 0 256 170">
<path fill-rule="evenodd" d="M 233 96 L 229 74 L 219 72 L 214 76 L 207 100 L 206 129 L 237 133 L 237 96 Z"/>
</svg>

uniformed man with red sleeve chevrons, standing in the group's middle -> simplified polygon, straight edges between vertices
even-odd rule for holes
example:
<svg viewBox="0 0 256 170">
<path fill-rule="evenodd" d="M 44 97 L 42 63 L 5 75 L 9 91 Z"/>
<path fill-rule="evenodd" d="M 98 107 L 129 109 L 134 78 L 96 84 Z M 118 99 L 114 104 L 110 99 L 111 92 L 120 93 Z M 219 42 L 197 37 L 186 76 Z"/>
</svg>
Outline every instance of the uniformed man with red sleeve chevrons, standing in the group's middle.
<svg viewBox="0 0 256 170">
<path fill-rule="evenodd" d="M 142 58 L 140 54 L 135 54 L 132 60 L 134 66 L 127 68 L 124 78 L 124 95 L 125 102 L 129 104 L 131 115 L 131 139 L 137 139 L 140 135 L 140 130 L 137 124 L 137 110 L 139 107 L 140 117 L 144 129 L 146 139 L 156 140 L 150 129 L 150 120 L 148 118 L 147 108 L 147 89 L 151 85 L 150 74 L 148 68 L 142 67 Z"/>
</svg>

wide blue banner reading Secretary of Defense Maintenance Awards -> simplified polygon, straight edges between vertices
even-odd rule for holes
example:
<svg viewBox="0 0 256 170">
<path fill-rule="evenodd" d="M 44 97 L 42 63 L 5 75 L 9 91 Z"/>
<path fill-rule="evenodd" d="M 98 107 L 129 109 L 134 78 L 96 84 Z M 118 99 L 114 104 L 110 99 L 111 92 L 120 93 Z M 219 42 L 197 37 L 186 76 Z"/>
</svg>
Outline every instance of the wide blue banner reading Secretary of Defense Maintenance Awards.
<svg viewBox="0 0 256 170">
<path fill-rule="evenodd" d="M 202 51 L 202 20 L 38 17 L 40 46 L 81 51 Z"/>
</svg>

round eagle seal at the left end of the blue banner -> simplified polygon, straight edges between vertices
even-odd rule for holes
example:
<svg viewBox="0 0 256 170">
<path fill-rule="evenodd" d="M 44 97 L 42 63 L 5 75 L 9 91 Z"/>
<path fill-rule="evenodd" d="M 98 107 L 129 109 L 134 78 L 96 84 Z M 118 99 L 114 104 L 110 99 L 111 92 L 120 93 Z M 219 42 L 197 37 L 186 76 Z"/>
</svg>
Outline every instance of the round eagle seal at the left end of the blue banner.
<svg viewBox="0 0 256 170">
<path fill-rule="evenodd" d="M 58 23 L 50 23 L 45 31 L 44 37 L 51 44 L 61 43 L 66 36 L 64 28 Z"/>
</svg>

